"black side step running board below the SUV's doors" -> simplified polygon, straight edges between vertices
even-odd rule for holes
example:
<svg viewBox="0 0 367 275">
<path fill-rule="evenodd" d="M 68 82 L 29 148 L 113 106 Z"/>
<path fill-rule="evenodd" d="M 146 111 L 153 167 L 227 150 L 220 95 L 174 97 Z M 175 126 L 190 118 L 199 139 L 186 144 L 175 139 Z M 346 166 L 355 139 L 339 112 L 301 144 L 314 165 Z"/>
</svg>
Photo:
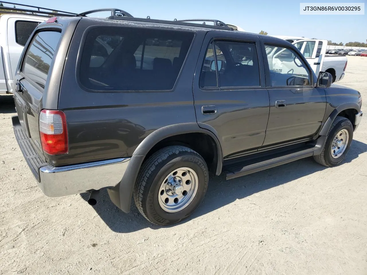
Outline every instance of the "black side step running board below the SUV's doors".
<svg viewBox="0 0 367 275">
<path fill-rule="evenodd" d="M 288 162 L 296 161 L 297 159 L 307 158 L 307 157 L 312 156 L 313 154 L 314 154 L 314 148 L 309 148 L 309 149 L 298 151 L 298 152 L 291 153 L 288 155 L 283 155 L 281 157 L 276 157 L 276 158 L 268 159 L 265 161 L 257 162 L 254 164 L 250 164 L 250 165 L 244 166 L 239 171 L 228 172 L 227 179 L 229 180 L 235 177 L 240 177 L 240 176 L 248 175 L 251 173 L 259 172 L 261 170 L 265 170 L 268 168 L 286 164 Z M 227 170 L 230 170 L 230 167 Z"/>
</svg>

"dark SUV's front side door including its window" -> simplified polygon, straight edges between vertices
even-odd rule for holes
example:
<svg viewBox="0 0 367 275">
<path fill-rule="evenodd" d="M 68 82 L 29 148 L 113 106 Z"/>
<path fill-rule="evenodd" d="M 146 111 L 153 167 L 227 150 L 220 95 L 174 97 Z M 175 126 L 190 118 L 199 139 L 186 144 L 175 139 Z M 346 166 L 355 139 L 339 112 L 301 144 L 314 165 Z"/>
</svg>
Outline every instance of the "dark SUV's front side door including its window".
<svg viewBox="0 0 367 275">
<path fill-rule="evenodd" d="M 325 90 L 314 87 L 312 71 L 294 49 L 271 40 L 264 48 L 270 97 L 264 147 L 312 139 L 325 114 Z"/>
</svg>

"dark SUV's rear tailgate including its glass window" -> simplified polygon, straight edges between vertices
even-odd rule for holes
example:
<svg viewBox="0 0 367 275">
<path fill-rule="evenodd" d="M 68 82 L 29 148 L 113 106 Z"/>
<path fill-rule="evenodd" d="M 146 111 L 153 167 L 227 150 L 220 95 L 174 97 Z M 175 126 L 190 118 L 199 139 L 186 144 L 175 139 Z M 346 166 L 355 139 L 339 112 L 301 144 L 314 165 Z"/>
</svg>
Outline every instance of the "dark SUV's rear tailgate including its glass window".
<svg viewBox="0 0 367 275">
<path fill-rule="evenodd" d="M 43 155 L 39 133 L 39 113 L 52 60 L 59 44 L 61 29 L 40 29 L 26 49 L 16 76 L 15 107 L 19 122 L 32 140 L 34 148 Z"/>
</svg>

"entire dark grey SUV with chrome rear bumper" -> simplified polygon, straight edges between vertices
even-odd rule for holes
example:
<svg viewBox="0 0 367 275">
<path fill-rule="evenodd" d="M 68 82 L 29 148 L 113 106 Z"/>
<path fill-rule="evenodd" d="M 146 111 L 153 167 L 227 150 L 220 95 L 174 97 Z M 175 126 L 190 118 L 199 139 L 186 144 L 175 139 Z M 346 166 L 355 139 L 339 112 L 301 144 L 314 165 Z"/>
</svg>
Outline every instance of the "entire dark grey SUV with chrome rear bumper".
<svg viewBox="0 0 367 275">
<path fill-rule="evenodd" d="M 316 76 L 294 45 L 111 12 L 40 23 L 16 67 L 15 137 L 47 196 L 90 192 L 95 204 L 107 188 L 124 212 L 133 197 L 146 219 L 169 225 L 197 208 L 209 172 L 233 179 L 345 158 L 361 95 Z"/>
</svg>

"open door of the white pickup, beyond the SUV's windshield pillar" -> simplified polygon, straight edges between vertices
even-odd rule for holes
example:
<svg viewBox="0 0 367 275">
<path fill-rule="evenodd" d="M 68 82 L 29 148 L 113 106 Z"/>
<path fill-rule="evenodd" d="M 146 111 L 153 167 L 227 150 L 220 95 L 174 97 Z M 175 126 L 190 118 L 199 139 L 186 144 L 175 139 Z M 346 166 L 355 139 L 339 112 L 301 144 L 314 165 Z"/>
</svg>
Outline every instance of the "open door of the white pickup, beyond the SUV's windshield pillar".
<svg viewBox="0 0 367 275">
<path fill-rule="evenodd" d="M 301 51 L 312 70 L 318 75 L 324 62 L 327 40 L 298 40 L 292 44 Z"/>
</svg>

